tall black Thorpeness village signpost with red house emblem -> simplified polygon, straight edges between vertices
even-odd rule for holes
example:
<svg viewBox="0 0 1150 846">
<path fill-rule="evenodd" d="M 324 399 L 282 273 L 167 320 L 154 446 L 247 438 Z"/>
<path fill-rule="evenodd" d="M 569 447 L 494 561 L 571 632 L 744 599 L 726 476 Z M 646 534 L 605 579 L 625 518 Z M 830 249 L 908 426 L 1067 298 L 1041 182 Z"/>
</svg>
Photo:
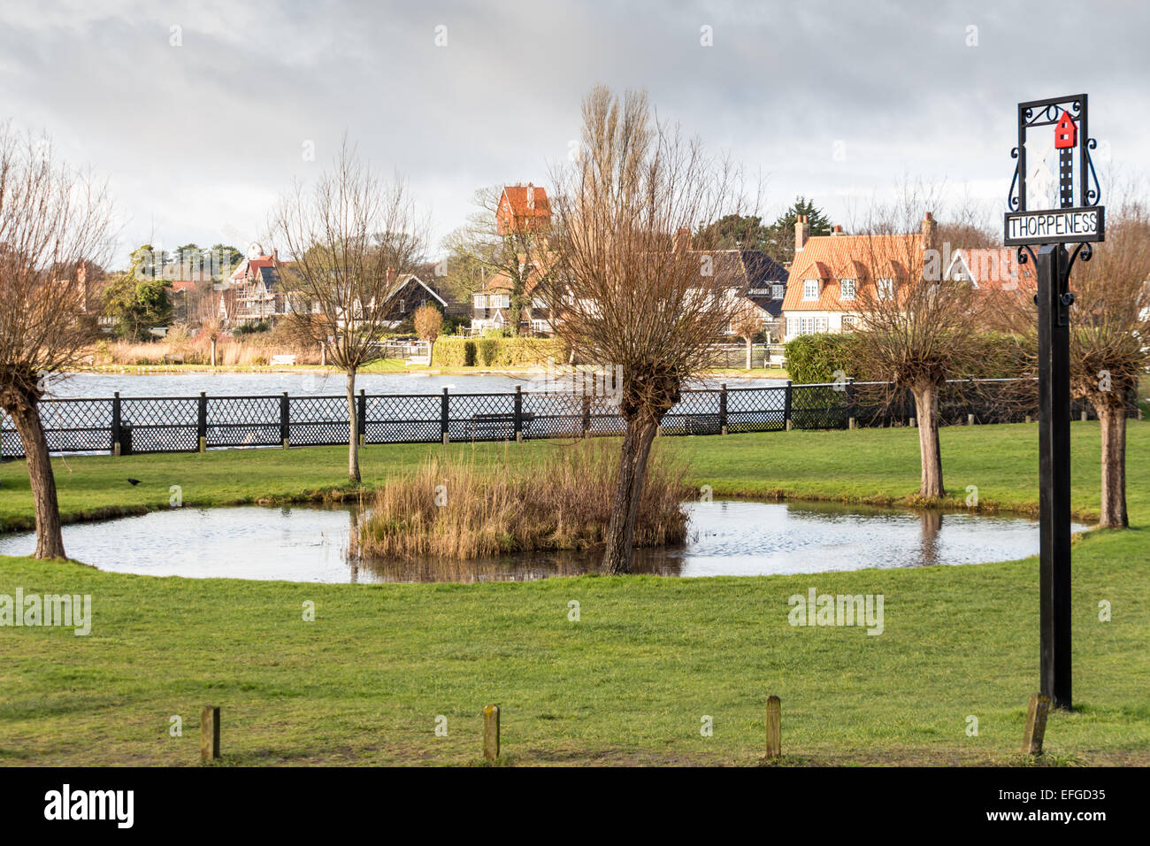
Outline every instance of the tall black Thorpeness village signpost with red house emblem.
<svg viewBox="0 0 1150 846">
<path fill-rule="evenodd" d="M 1030 211 L 1027 130 L 1040 127 L 1053 131 L 1059 207 Z M 1087 132 L 1086 94 L 1018 105 L 1018 146 L 1011 152 L 1018 165 L 1007 198 L 1003 242 L 1018 246 L 1019 262 L 1026 264 L 1029 256 L 1038 277 L 1034 299 L 1038 306 L 1041 689 L 1056 708 L 1066 709 L 1072 703 L 1070 310 L 1074 295 L 1070 274 L 1076 259 L 1090 260 L 1090 244 L 1105 237 L 1105 209 L 1098 205 L 1102 191 L 1089 152 L 1097 142 Z M 1038 134 L 1032 140 L 1042 143 Z M 1075 244 L 1073 253 L 1066 244 Z"/>
</svg>

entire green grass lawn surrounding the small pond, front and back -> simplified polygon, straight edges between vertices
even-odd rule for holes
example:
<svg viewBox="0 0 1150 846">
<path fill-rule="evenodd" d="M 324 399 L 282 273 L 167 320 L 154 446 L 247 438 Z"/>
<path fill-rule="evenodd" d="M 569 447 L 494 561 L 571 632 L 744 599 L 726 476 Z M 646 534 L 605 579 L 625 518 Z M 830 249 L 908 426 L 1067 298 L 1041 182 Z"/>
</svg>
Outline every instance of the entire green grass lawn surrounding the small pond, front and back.
<svg viewBox="0 0 1150 846">
<path fill-rule="evenodd" d="M 918 487 L 913 429 L 667 439 L 716 495 L 897 501 Z M 948 486 L 1027 511 L 1037 427 L 942 433 Z M 1072 426 L 1074 506 L 1098 505 L 1098 428 Z M 555 442 L 476 447 L 493 460 Z M 369 447 L 368 485 L 438 447 Z M 469 451 L 469 445 L 453 445 Z M 1150 425 L 1129 430 L 1135 528 L 1074 544 L 1076 710 L 1048 762 L 1150 763 Z M 337 448 L 55 463 L 71 519 L 117 509 L 342 495 Z M 140 479 L 132 487 L 126 478 Z M 22 464 L 0 465 L 0 523 L 28 525 Z M 473 763 L 481 708 L 509 763 L 754 763 L 768 694 L 789 763 L 1018 763 L 1037 686 L 1035 559 L 816 576 L 300 585 L 106 573 L 0 559 L 0 594 L 91 594 L 92 633 L 0 627 L 0 763 L 198 761 L 223 708 L 224 763 Z M 791 594 L 883 594 L 885 631 L 791 627 Z M 581 619 L 568 619 L 578 601 Z M 1107 601 L 1112 619 L 1098 619 Z M 305 602 L 315 620 L 302 619 Z M 169 718 L 184 734 L 169 736 Z M 447 734 L 436 734 L 437 716 Z M 713 718 L 711 737 L 700 721 Z M 968 717 L 979 734 L 966 733 Z"/>
</svg>

